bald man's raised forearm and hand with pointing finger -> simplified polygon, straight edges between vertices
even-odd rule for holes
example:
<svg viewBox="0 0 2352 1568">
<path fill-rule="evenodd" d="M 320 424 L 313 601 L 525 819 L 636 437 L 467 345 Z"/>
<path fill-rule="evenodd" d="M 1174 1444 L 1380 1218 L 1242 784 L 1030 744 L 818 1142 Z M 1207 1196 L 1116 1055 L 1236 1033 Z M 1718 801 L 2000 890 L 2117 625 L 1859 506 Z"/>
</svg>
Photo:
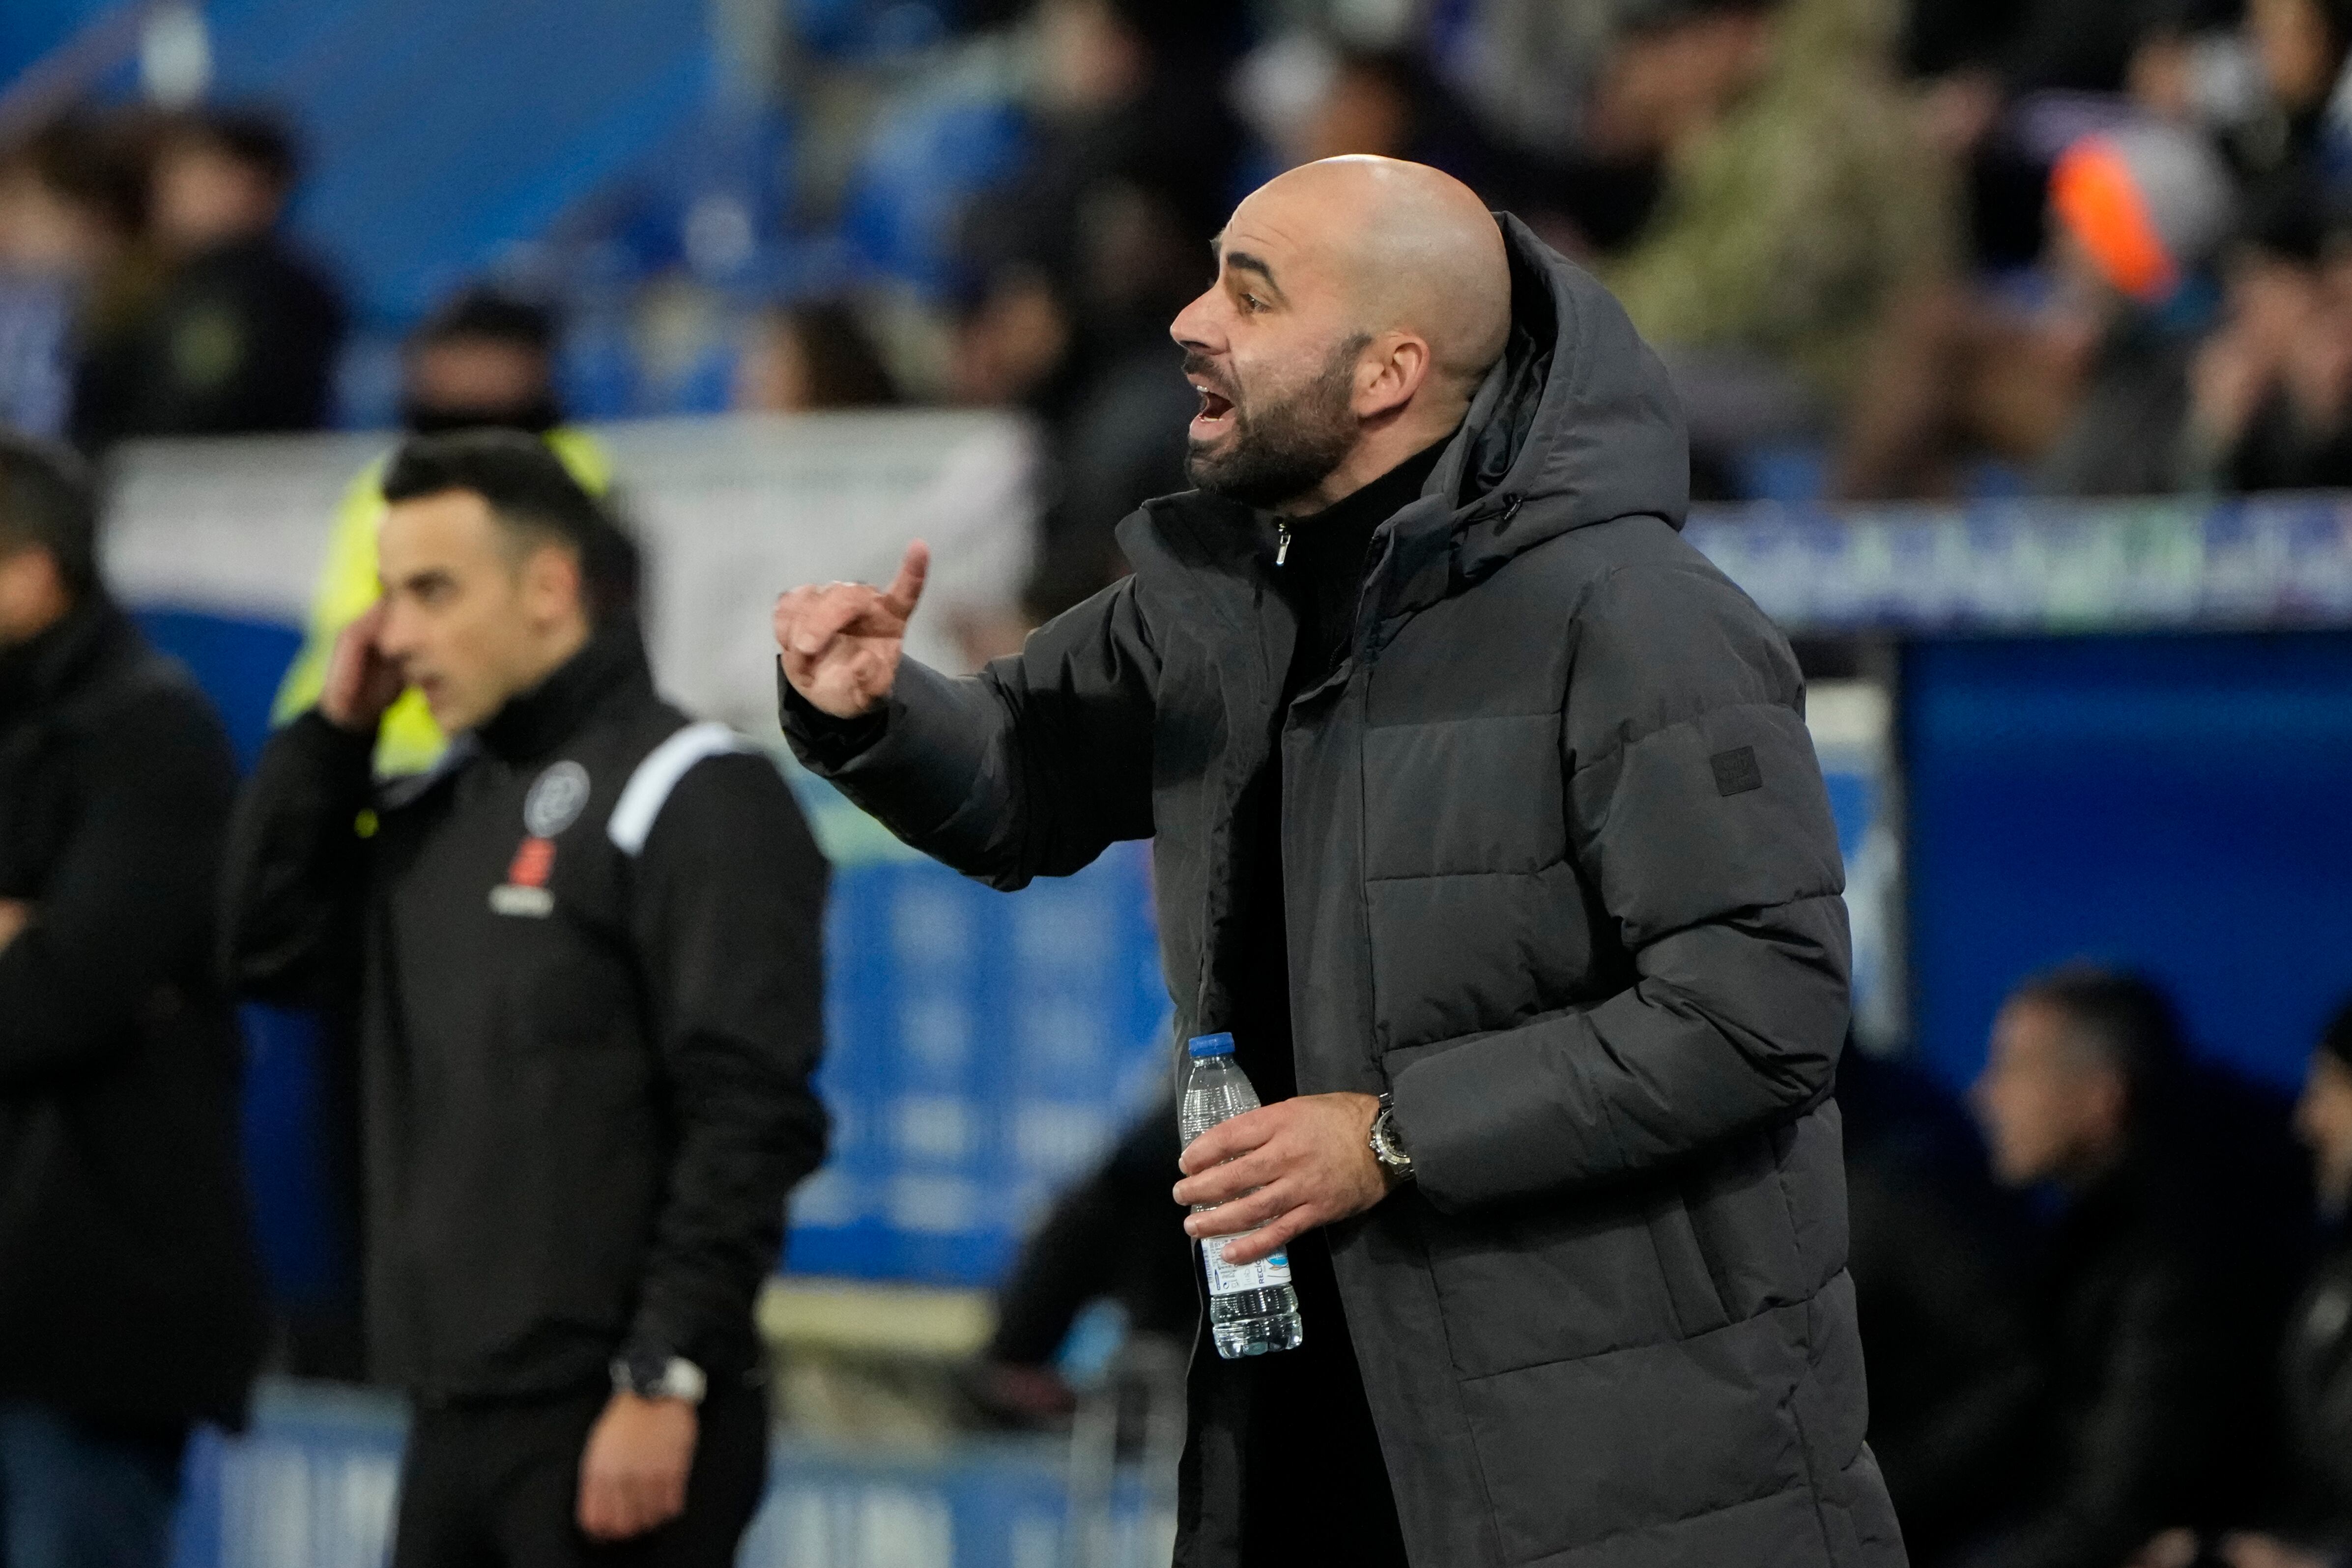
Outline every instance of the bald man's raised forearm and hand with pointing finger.
<svg viewBox="0 0 2352 1568">
<path fill-rule="evenodd" d="M 1000 889 L 1148 837 L 1157 654 L 1134 578 L 950 679 L 901 658 L 924 559 L 913 545 L 889 590 L 833 583 L 776 604 L 793 752 L 915 849 Z"/>
</svg>

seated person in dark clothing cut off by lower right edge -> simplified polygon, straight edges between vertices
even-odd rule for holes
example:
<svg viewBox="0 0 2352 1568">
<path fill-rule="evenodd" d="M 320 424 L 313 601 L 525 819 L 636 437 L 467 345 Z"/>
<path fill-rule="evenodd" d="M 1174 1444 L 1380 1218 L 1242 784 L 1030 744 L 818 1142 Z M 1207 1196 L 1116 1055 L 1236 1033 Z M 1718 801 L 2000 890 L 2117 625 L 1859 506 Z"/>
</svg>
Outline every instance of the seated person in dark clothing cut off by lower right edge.
<svg viewBox="0 0 2352 1568">
<path fill-rule="evenodd" d="M 2328 1020 L 2296 1103 L 2312 1154 L 2324 1251 L 2286 1319 L 2279 1356 L 2288 1474 L 2267 1530 L 2206 1544 L 2166 1530 L 2133 1568 L 2338 1568 L 2352 1554 L 2352 1006 Z M 2199 1549 L 2211 1556 L 2199 1556 Z"/>
</svg>

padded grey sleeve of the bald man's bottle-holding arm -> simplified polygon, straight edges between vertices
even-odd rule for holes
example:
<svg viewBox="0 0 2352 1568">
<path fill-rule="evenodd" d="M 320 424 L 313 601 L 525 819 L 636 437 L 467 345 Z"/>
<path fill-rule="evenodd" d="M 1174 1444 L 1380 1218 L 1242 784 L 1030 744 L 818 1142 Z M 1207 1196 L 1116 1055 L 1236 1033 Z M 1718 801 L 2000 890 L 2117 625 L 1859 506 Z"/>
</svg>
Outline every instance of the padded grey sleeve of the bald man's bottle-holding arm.
<svg viewBox="0 0 2352 1568">
<path fill-rule="evenodd" d="M 1566 698 L 1578 870 L 1635 983 L 1397 1074 L 1439 1208 L 1665 1166 L 1828 1093 L 1844 867 L 1788 644 L 1698 562 L 1613 571 Z"/>
</svg>

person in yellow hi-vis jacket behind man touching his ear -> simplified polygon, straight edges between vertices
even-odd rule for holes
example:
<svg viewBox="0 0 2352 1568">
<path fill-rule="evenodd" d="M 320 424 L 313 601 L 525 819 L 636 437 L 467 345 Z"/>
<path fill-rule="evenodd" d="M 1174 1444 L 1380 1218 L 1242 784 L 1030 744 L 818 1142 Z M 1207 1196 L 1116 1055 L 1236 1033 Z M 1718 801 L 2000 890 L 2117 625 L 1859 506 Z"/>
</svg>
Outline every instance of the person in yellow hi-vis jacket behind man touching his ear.
<svg viewBox="0 0 2352 1568">
<path fill-rule="evenodd" d="M 555 315 L 496 289 L 468 289 L 409 339 L 400 364 L 400 423 L 416 433 L 496 428 L 548 442 L 574 480 L 602 496 L 612 458 L 588 435 L 562 423 L 555 395 Z M 376 529 L 383 524 L 383 461 L 360 470 L 334 510 L 327 562 L 310 595 L 301 651 L 278 684 L 273 719 L 306 712 L 327 682 L 336 637 L 376 602 Z M 379 726 L 376 771 L 423 773 L 447 745 L 426 701 L 405 691 Z"/>
</svg>

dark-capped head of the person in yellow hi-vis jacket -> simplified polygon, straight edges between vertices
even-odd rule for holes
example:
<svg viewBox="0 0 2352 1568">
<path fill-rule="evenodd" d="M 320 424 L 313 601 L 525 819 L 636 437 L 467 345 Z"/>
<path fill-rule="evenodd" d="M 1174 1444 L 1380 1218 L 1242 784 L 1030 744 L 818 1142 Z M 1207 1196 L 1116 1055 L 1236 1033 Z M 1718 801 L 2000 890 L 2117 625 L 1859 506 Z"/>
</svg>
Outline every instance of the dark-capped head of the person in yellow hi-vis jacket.
<svg viewBox="0 0 2352 1568">
<path fill-rule="evenodd" d="M 468 289 L 409 339 L 400 423 L 419 435 L 499 425 L 541 435 L 562 423 L 555 313 L 496 289 Z"/>
</svg>

